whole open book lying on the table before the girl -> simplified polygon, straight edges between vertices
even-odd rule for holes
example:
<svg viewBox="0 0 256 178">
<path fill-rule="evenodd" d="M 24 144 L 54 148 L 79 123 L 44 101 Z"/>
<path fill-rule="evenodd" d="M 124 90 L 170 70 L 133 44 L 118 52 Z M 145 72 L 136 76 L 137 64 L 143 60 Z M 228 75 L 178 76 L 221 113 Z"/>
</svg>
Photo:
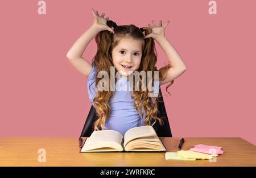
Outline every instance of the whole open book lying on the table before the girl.
<svg viewBox="0 0 256 178">
<path fill-rule="evenodd" d="M 167 151 L 152 126 L 133 127 L 122 135 L 114 130 L 97 130 L 87 138 L 80 152 Z"/>
</svg>

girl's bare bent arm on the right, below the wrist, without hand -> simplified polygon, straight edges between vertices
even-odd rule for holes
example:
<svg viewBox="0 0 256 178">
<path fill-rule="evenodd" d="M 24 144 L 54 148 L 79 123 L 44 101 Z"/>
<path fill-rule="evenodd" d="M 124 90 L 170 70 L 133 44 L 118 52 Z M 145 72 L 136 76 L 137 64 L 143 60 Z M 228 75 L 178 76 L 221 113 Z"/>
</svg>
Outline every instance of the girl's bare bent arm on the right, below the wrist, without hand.
<svg viewBox="0 0 256 178">
<path fill-rule="evenodd" d="M 171 68 L 168 69 L 166 79 L 160 81 L 160 85 L 171 82 L 175 78 L 179 77 L 187 69 L 185 63 L 181 59 L 179 53 L 172 47 L 165 36 L 155 39 L 160 45 L 163 51 L 166 53 L 168 60 L 170 61 Z"/>
</svg>

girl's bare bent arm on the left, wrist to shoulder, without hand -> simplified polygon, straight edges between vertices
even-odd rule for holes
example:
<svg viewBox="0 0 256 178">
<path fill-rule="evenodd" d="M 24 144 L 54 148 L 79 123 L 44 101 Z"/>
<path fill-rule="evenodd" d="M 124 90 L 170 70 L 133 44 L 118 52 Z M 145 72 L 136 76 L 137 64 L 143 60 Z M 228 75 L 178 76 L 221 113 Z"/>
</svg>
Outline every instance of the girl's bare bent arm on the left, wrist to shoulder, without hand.
<svg viewBox="0 0 256 178">
<path fill-rule="evenodd" d="M 84 34 L 82 34 L 82 36 L 80 36 L 79 39 L 76 40 L 75 44 L 73 44 L 67 53 L 67 58 L 70 63 L 86 78 L 89 77 L 92 65 L 88 63 L 84 57 L 82 57 L 82 54 L 84 53 L 87 45 L 98 34 L 98 32 L 100 32 L 100 30 L 97 27 L 91 26 L 87 31 L 84 32 Z"/>
</svg>

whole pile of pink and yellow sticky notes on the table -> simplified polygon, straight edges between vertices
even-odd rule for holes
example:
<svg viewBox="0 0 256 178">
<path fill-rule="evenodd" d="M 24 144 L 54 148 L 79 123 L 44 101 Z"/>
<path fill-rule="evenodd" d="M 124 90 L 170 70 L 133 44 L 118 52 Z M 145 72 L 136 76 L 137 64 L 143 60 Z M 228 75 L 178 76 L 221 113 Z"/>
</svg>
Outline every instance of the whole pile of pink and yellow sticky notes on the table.
<svg viewBox="0 0 256 178">
<path fill-rule="evenodd" d="M 196 160 L 213 159 L 219 154 L 223 154 L 222 147 L 197 144 L 190 150 L 181 150 L 177 152 L 166 152 L 166 159 L 172 160 Z"/>
</svg>

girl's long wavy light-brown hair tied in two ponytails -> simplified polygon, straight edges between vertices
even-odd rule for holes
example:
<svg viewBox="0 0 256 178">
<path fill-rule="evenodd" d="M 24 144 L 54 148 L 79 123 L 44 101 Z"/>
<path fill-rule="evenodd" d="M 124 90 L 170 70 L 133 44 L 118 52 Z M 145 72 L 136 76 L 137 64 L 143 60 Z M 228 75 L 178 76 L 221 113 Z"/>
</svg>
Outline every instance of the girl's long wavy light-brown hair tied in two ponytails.
<svg viewBox="0 0 256 178">
<path fill-rule="evenodd" d="M 108 20 L 107 24 L 111 28 L 113 26 L 113 21 Z M 148 27 L 143 27 L 145 35 L 151 33 L 151 29 Z M 101 130 L 106 129 L 105 122 L 108 119 L 111 107 L 109 105 L 109 100 L 113 96 L 114 91 L 110 90 L 110 67 L 114 67 L 113 60 L 112 60 L 112 50 L 115 46 L 118 45 L 119 41 L 123 37 L 131 37 L 133 39 L 137 39 L 141 41 L 142 44 L 142 58 L 141 64 L 138 72 L 145 71 L 146 76 L 147 71 L 152 71 L 152 83 L 154 83 L 154 71 L 158 71 L 155 67 L 157 61 L 157 52 L 155 49 L 154 39 L 147 38 L 144 39 L 144 34 L 140 30 L 140 28 L 134 26 L 133 24 L 130 25 L 123 25 L 117 26 L 114 28 L 114 35 L 110 34 L 109 31 L 101 31 L 95 36 L 95 40 L 97 43 L 97 53 L 93 58 L 93 63 L 96 65 L 97 73 L 100 71 L 108 72 L 109 76 L 109 90 L 108 91 L 100 91 L 98 90 L 96 97 L 94 97 L 94 105 L 96 106 L 96 115 L 97 120 L 94 122 L 94 130 Z M 159 69 L 159 81 L 164 80 L 167 76 L 167 71 L 171 67 L 170 64 L 164 66 L 163 68 Z M 117 70 L 115 69 L 115 73 Z M 115 78 L 115 76 L 114 76 Z M 147 77 L 146 77 L 147 78 Z M 102 78 L 96 77 L 96 86 L 98 86 L 98 82 Z M 134 80 L 134 78 L 133 78 Z M 115 78 L 115 83 L 117 82 L 117 78 Z M 174 80 L 170 82 L 169 85 L 166 87 L 166 91 L 168 87 L 170 87 L 174 83 Z M 160 125 L 163 125 L 163 120 L 158 117 L 158 106 L 157 100 L 159 97 L 148 97 L 148 89 L 146 91 L 142 90 L 142 78 L 139 78 L 139 91 L 131 91 L 131 98 L 134 99 L 134 107 L 142 117 L 142 107 L 144 111 L 146 111 L 146 118 L 144 120 L 145 125 L 155 125 L 156 122 L 159 122 Z M 102 85 L 104 86 L 104 84 Z M 133 87 L 135 87 L 135 82 L 133 82 Z M 138 85 L 137 85 L 138 87 Z M 168 91 L 167 91 L 168 92 Z M 168 92 L 169 93 L 169 92 Z M 169 93 L 170 94 L 170 93 Z M 171 95 L 171 94 L 170 94 Z M 154 121 L 152 123 L 152 121 Z M 151 124 L 152 123 L 152 124 Z"/>
</svg>

